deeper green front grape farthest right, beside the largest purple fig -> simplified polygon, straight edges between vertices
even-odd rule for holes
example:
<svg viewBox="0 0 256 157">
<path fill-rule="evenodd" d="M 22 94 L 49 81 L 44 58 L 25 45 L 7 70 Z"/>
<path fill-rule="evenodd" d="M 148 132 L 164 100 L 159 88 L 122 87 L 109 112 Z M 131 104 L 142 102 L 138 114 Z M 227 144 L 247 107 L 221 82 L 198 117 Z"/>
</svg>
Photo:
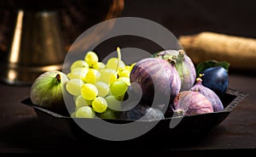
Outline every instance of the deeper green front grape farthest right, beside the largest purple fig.
<svg viewBox="0 0 256 157">
<path fill-rule="evenodd" d="M 125 81 L 114 81 L 110 85 L 110 92 L 115 97 L 124 96 L 127 89 L 128 85 Z"/>
</svg>

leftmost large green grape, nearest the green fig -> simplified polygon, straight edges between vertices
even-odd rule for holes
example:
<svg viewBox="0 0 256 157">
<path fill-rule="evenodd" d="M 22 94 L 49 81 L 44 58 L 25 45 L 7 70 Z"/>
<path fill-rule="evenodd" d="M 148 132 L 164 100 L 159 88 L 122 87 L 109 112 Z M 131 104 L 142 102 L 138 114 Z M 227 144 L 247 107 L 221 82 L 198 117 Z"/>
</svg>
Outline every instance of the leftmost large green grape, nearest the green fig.
<svg viewBox="0 0 256 157">
<path fill-rule="evenodd" d="M 67 89 L 68 93 L 75 95 L 75 96 L 79 96 L 79 95 L 81 95 L 80 88 L 83 85 L 84 85 L 84 81 L 82 81 L 80 79 L 72 79 L 72 80 L 67 81 L 66 89 Z"/>
</svg>

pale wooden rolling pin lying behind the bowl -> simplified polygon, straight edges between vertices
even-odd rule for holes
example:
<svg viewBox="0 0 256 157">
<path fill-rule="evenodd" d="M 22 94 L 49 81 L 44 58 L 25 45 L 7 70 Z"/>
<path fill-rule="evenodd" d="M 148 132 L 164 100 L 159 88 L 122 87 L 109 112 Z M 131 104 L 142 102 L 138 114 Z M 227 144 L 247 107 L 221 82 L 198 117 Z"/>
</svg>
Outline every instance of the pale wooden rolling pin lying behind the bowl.
<svg viewBox="0 0 256 157">
<path fill-rule="evenodd" d="M 256 39 L 204 31 L 179 36 L 185 52 L 195 64 L 209 59 L 227 61 L 230 69 L 256 70 Z"/>
</svg>

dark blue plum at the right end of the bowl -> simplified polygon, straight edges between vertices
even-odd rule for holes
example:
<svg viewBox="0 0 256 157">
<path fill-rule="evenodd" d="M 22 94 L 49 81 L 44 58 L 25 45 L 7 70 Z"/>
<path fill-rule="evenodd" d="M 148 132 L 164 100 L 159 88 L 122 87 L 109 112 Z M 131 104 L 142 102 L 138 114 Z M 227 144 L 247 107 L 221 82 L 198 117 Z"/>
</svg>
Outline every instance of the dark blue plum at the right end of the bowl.
<svg viewBox="0 0 256 157">
<path fill-rule="evenodd" d="M 222 66 L 214 66 L 203 70 L 201 75 L 201 84 L 223 98 L 229 85 L 228 71 Z"/>
</svg>

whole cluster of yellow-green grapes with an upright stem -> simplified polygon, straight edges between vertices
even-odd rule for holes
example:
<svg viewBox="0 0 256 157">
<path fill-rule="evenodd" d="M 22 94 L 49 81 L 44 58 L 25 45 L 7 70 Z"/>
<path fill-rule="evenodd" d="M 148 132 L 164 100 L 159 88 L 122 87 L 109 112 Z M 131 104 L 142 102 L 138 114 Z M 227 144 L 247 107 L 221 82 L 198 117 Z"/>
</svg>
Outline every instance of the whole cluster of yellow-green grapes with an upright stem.
<svg viewBox="0 0 256 157">
<path fill-rule="evenodd" d="M 75 110 L 73 117 L 116 119 L 121 102 L 130 83 L 133 64 L 127 65 L 118 57 L 108 59 L 104 64 L 95 52 L 86 53 L 84 59 L 73 62 L 67 74 L 67 92 L 73 95 Z"/>
</svg>

